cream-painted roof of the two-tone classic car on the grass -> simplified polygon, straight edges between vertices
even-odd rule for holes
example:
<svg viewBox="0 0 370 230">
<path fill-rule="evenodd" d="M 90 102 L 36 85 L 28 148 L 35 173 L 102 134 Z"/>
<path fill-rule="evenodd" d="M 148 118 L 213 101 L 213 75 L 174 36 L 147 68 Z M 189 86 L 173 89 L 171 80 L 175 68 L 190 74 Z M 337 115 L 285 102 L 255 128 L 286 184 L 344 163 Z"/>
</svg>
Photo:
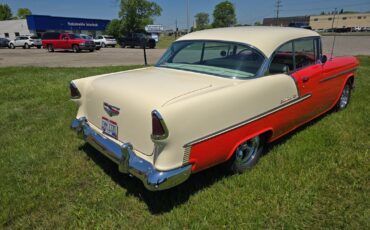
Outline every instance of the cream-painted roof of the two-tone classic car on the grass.
<svg viewBox="0 0 370 230">
<path fill-rule="evenodd" d="M 259 49 L 266 57 L 282 44 L 305 37 L 317 37 L 318 33 L 301 28 L 275 26 L 242 26 L 201 30 L 187 34 L 177 41 L 214 40 L 232 41 L 251 45 Z"/>
</svg>

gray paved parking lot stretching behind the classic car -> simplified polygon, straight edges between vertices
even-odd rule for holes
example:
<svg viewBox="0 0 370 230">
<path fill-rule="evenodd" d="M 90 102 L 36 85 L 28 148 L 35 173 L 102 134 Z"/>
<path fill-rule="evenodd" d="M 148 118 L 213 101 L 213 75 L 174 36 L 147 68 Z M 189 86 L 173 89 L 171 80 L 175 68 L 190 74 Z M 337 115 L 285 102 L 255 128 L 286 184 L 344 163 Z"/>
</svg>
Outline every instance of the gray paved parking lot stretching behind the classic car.
<svg viewBox="0 0 370 230">
<path fill-rule="evenodd" d="M 323 37 L 324 53 L 330 53 L 332 36 Z M 337 36 L 334 49 L 335 56 L 370 55 L 370 36 Z M 147 49 L 149 64 L 157 62 L 165 49 Z M 0 49 L 0 66 L 65 66 L 92 67 L 144 64 L 142 49 L 104 48 L 93 53 L 57 51 L 48 53 L 44 49 Z"/>
</svg>

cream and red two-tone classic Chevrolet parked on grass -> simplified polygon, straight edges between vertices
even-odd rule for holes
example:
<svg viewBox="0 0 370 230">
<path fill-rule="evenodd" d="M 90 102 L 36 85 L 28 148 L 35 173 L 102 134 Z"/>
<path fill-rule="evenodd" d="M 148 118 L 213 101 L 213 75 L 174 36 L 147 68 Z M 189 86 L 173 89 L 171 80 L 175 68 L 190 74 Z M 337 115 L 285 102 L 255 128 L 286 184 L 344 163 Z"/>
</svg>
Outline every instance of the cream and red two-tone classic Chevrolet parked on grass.
<svg viewBox="0 0 370 230">
<path fill-rule="evenodd" d="M 306 29 L 199 31 L 154 67 L 73 80 L 72 128 L 120 172 L 168 189 L 223 162 L 243 172 L 265 144 L 345 108 L 358 64 L 323 55 Z"/>
</svg>

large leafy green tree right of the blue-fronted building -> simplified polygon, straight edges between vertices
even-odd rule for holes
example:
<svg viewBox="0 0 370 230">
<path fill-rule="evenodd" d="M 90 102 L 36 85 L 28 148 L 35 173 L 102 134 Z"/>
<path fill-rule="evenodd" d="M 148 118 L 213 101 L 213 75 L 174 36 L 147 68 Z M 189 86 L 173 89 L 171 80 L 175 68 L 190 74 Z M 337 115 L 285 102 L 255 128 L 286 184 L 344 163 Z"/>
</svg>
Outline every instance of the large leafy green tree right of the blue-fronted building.
<svg viewBox="0 0 370 230">
<path fill-rule="evenodd" d="M 153 17 L 160 16 L 162 8 L 155 2 L 147 0 L 121 0 L 119 17 L 122 20 L 123 32 L 143 31 L 144 27 L 153 24 Z"/>
</svg>

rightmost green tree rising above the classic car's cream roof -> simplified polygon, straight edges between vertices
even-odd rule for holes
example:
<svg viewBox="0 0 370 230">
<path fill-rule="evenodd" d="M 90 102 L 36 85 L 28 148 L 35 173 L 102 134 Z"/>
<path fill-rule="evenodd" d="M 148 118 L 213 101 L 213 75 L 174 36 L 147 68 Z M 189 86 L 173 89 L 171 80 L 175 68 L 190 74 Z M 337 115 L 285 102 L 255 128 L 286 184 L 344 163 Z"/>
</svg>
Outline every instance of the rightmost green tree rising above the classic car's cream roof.
<svg viewBox="0 0 370 230">
<path fill-rule="evenodd" d="M 213 27 L 229 27 L 236 24 L 235 8 L 229 1 L 220 2 L 213 11 Z"/>
</svg>

